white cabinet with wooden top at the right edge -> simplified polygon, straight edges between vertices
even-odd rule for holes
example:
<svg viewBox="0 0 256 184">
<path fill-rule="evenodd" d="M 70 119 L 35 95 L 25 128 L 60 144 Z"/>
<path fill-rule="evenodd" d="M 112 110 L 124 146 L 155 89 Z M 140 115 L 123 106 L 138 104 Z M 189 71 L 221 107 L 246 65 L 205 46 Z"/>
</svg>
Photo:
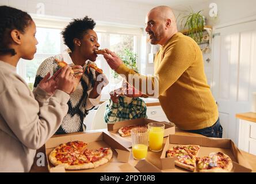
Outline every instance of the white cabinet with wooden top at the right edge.
<svg viewBox="0 0 256 184">
<path fill-rule="evenodd" d="M 256 113 L 236 114 L 239 118 L 238 148 L 256 155 Z"/>
</svg>

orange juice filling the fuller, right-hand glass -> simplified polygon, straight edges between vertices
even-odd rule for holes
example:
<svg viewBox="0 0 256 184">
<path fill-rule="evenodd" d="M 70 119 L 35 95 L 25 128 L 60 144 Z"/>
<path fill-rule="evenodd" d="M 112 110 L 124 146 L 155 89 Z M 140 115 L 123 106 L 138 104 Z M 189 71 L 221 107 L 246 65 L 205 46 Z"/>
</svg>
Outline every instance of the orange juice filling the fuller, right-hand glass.
<svg viewBox="0 0 256 184">
<path fill-rule="evenodd" d="M 151 151 L 161 151 L 163 145 L 163 132 L 161 127 L 152 127 L 149 131 L 149 145 Z"/>
</svg>

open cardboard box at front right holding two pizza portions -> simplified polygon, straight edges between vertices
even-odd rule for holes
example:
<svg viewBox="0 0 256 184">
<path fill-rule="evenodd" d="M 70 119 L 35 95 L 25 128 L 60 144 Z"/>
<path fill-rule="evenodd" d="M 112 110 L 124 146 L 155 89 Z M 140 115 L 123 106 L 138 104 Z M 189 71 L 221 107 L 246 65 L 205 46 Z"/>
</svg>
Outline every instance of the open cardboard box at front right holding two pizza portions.
<svg viewBox="0 0 256 184">
<path fill-rule="evenodd" d="M 231 172 L 234 173 L 251 173 L 250 164 L 244 158 L 242 153 L 230 139 L 209 138 L 201 136 L 184 136 L 184 135 L 170 135 L 166 139 L 165 147 L 161 154 L 161 170 L 163 172 L 183 173 L 190 172 L 183 168 L 177 167 L 174 164 L 176 158 L 166 158 L 166 151 L 175 145 L 200 145 L 198 157 L 209 156 L 211 152 L 223 152 L 230 156 L 233 162 Z M 194 172 L 198 172 L 197 168 Z"/>
</svg>

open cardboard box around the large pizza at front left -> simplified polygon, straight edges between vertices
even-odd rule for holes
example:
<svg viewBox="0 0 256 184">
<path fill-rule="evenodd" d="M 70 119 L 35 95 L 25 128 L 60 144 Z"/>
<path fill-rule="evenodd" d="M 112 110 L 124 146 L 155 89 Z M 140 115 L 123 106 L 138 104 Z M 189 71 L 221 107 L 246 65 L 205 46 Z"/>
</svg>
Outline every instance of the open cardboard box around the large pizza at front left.
<svg viewBox="0 0 256 184">
<path fill-rule="evenodd" d="M 110 161 L 102 166 L 86 169 L 86 170 L 65 170 L 62 166 L 54 166 L 49 162 L 48 155 L 58 147 L 59 144 L 68 143 L 69 141 L 83 141 L 88 143 L 87 148 L 97 150 L 101 147 L 110 147 L 113 151 L 113 156 Z M 67 135 L 55 135 L 45 143 L 45 153 L 47 155 L 48 170 L 51 173 L 63 172 L 88 172 L 88 173 L 138 173 L 135 167 L 131 166 L 128 161 L 130 152 L 123 145 L 118 143 L 105 132 L 96 133 L 70 133 Z"/>
</svg>

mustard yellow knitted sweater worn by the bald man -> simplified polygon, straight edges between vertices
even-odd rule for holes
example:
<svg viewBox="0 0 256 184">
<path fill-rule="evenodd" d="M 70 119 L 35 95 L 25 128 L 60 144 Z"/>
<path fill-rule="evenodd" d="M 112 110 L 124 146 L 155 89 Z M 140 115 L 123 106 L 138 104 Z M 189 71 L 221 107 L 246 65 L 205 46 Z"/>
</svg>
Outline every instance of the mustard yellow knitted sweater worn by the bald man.
<svg viewBox="0 0 256 184">
<path fill-rule="evenodd" d="M 215 124 L 219 117 L 217 105 L 207 85 L 202 53 L 193 39 L 182 33 L 174 34 L 156 53 L 154 68 L 154 75 L 159 76 L 159 102 L 169 121 L 184 130 Z M 139 75 L 124 64 L 116 72 L 127 79 L 133 74 L 133 78 L 141 79 L 140 85 L 144 80 L 156 87 L 155 76 Z M 142 87 L 139 90 L 151 95 Z"/>
</svg>

